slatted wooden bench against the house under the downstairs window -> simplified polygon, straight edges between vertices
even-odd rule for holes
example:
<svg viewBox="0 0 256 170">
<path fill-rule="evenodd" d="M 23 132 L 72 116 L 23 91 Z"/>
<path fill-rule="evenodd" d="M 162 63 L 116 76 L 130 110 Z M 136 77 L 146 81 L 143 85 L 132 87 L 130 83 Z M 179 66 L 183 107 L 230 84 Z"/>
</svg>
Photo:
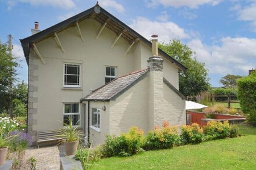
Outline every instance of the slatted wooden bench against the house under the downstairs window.
<svg viewBox="0 0 256 170">
<path fill-rule="evenodd" d="M 62 138 L 56 137 L 59 135 L 59 130 L 50 130 L 50 131 L 38 131 L 37 132 L 37 146 L 49 145 L 49 144 L 58 144 Z"/>
</svg>

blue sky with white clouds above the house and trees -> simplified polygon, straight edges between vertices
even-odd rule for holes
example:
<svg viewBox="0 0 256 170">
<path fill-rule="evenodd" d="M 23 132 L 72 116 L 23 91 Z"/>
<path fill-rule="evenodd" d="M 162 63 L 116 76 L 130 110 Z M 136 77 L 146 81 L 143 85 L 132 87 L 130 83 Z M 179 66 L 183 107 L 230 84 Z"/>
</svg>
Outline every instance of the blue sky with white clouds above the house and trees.
<svg viewBox="0 0 256 170">
<path fill-rule="evenodd" d="M 0 41 L 13 36 L 20 81 L 27 64 L 19 39 L 34 21 L 44 30 L 95 5 L 95 0 L 0 0 Z M 256 67 L 256 0 L 99 0 L 99 5 L 145 38 L 177 38 L 205 63 L 209 82 L 221 86 L 227 74 L 248 75 Z"/>
</svg>

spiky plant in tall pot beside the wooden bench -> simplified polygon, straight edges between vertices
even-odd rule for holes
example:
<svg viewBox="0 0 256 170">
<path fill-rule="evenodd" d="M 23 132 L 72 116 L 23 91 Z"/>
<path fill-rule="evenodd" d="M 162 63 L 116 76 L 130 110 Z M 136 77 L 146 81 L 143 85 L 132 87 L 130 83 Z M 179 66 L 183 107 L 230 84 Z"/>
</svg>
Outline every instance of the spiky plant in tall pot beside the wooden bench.
<svg viewBox="0 0 256 170">
<path fill-rule="evenodd" d="M 72 125 L 72 119 L 69 119 L 69 124 L 65 124 L 64 128 L 60 129 L 60 134 L 56 135 L 65 144 L 66 155 L 74 155 L 79 144 L 81 132 L 77 126 Z"/>
</svg>

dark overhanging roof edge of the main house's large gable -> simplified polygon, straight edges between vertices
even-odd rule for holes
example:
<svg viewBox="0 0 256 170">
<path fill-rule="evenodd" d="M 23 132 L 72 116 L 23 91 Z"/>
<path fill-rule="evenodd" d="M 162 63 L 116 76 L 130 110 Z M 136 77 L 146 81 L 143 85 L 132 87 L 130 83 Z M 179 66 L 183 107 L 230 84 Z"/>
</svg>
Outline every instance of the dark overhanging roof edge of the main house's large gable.
<svg viewBox="0 0 256 170">
<path fill-rule="evenodd" d="M 42 30 L 42 31 L 38 32 L 37 34 L 31 35 L 27 38 L 20 39 L 20 42 L 22 43 L 23 52 L 24 52 L 24 55 L 27 60 L 27 64 L 29 64 L 28 60 L 29 60 L 29 52 L 30 52 L 31 44 L 51 36 L 52 34 L 54 34 L 54 32 L 61 31 L 69 26 L 74 26 L 74 23 L 76 23 L 77 21 L 83 20 L 86 17 L 92 15 L 92 13 L 95 12 L 96 6 L 98 6 L 98 3 L 97 3 L 97 5 L 93 6 L 93 8 L 87 9 L 84 12 L 81 12 L 73 17 L 70 17 L 69 19 L 62 21 L 61 23 L 55 24 L 54 26 L 49 27 L 45 30 Z M 140 41 L 144 42 L 144 44 L 146 44 L 150 47 L 152 46 L 151 42 L 148 41 L 148 39 L 146 39 L 142 35 L 138 34 L 138 32 L 134 31 L 132 28 L 130 28 L 125 23 L 123 23 L 122 21 L 117 19 L 115 16 L 111 15 L 105 9 L 101 8 L 101 6 L 98 6 L 98 7 L 99 7 L 100 14 L 111 19 L 111 21 L 113 21 L 113 24 L 116 24 L 116 26 L 127 30 L 127 32 L 129 32 L 129 34 L 131 36 L 140 39 Z M 163 50 L 158 48 L 158 53 L 159 53 L 159 55 L 162 55 L 167 60 L 169 60 L 171 63 L 175 64 L 181 70 L 183 70 L 183 71 L 187 70 L 187 67 L 185 67 L 185 66 L 183 66 L 183 64 L 177 62 L 177 60 L 170 57 L 167 53 L 163 52 Z"/>
</svg>

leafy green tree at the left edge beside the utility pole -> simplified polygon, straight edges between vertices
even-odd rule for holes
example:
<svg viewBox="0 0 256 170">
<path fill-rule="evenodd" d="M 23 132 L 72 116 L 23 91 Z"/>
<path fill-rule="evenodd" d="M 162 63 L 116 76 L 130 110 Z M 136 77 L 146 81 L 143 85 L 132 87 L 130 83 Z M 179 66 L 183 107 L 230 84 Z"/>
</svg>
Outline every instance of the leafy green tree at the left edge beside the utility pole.
<svg viewBox="0 0 256 170">
<path fill-rule="evenodd" d="M 6 44 L 0 42 L 0 112 L 9 109 L 12 101 L 12 85 L 16 81 L 16 67 L 18 66 L 15 57 L 9 54 Z"/>
</svg>

